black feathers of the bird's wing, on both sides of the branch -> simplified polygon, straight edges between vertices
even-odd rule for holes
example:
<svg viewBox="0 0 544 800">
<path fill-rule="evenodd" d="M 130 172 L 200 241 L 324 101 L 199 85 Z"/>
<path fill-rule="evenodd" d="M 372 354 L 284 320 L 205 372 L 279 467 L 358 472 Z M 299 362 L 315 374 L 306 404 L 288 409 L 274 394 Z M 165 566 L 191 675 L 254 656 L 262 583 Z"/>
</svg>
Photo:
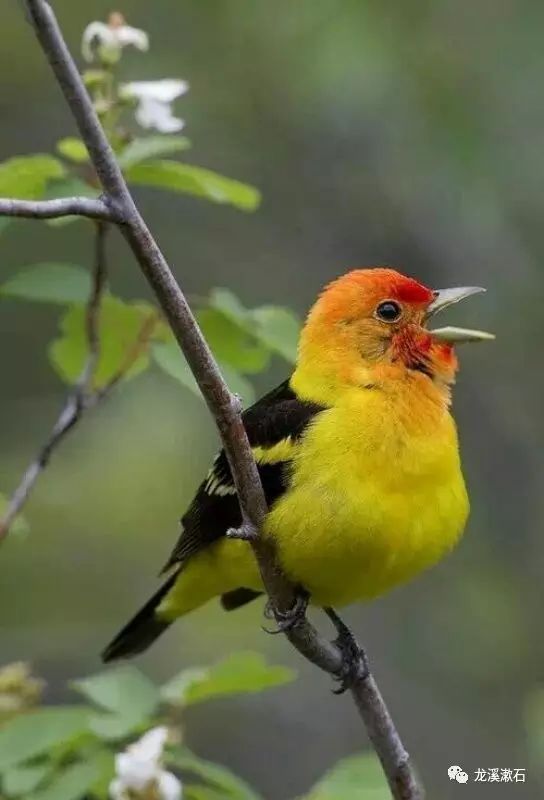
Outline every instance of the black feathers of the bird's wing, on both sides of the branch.
<svg viewBox="0 0 544 800">
<path fill-rule="evenodd" d="M 317 403 L 300 400 L 287 380 L 244 411 L 242 419 L 251 446 L 269 448 L 285 439 L 299 439 L 320 411 L 323 407 Z M 259 464 L 258 469 L 266 501 L 271 506 L 287 488 L 289 462 Z M 181 536 L 163 571 L 185 562 L 241 522 L 230 466 L 221 450 L 182 517 Z"/>
</svg>

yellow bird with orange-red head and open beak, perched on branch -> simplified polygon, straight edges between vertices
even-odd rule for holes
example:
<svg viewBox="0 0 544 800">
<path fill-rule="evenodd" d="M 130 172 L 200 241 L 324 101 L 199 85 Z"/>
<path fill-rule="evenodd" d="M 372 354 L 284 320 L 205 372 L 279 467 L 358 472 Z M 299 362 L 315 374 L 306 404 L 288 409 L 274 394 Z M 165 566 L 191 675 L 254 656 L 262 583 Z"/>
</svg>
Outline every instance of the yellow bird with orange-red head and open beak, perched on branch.
<svg viewBox="0 0 544 800">
<path fill-rule="evenodd" d="M 436 564 L 463 533 L 455 348 L 494 337 L 429 323 L 482 291 L 433 290 L 390 267 L 347 272 L 311 308 L 291 376 L 243 412 L 268 504 L 262 535 L 301 595 L 333 621 L 334 609 Z M 263 594 L 250 544 L 227 535 L 241 523 L 221 450 L 182 517 L 164 583 L 106 647 L 105 662 L 143 652 L 213 598 L 230 611 Z"/>
</svg>

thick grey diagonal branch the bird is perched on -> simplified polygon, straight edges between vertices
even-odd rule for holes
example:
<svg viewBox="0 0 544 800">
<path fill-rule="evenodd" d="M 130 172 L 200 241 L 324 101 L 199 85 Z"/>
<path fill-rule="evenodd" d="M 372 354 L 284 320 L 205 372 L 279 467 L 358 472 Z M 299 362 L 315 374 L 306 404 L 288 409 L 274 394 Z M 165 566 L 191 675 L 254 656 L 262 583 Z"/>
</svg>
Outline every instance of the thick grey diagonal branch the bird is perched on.
<svg viewBox="0 0 544 800">
<path fill-rule="evenodd" d="M 104 202 L 153 289 L 216 421 L 236 484 L 243 528 L 249 535 L 272 606 L 281 618 L 294 604 L 295 589 L 279 568 L 273 544 L 259 536 L 267 508 L 242 422 L 240 403 L 221 377 L 185 296 L 136 208 L 49 3 L 26 0 L 26 7 L 105 191 Z M 326 672 L 340 675 L 343 663 L 340 650 L 323 639 L 306 619 L 298 622 L 287 635 L 306 658 Z M 421 800 L 423 793 L 408 755 L 362 659 L 359 677 L 353 682 L 351 692 L 383 765 L 392 796 L 395 800 Z"/>
</svg>

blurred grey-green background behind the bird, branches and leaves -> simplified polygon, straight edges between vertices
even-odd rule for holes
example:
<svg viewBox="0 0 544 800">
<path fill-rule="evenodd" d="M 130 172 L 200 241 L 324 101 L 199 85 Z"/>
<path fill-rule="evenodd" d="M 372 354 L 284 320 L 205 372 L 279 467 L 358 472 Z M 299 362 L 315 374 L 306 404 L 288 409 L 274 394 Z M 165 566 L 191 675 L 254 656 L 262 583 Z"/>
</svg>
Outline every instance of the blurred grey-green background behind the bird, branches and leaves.
<svg viewBox="0 0 544 800">
<path fill-rule="evenodd" d="M 74 51 L 110 2 L 58 0 Z M 544 467 L 544 6 L 534 0 L 124 0 L 151 51 L 127 52 L 128 80 L 183 77 L 176 110 L 187 160 L 258 186 L 253 215 L 140 191 L 138 200 L 190 296 L 228 286 L 248 305 L 303 314 L 349 267 L 392 264 L 436 287 L 478 284 L 485 297 L 451 322 L 492 330 L 461 352 L 455 391 L 472 496 L 467 536 L 444 564 L 346 618 L 364 641 L 430 798 L 460 790 L 450 764 L 525 767 L 505 797 L 538 795 L 524 709 L 542 679 Z M 51 151 L 74 132 L 19 4 L 4 3 L 0 160 Z M 184 154 L 185 155 L 185 154 Z M 0 277 L 37 260 L 88 265 L 85 223 L 18 222 L 0 241 Z M 148 296 L 120 237 L 112 282 Z M 0 486 L 9 492 L 52 424 L 64 388 L 45 351 L 55 307 L 2 301 Z M 278 362 L 259 391 L 285 376 Z M 156 586 L 177 520 L 217 445 L 201 402 L 158 372 L 87 418 L 41 479 L 26 541 L 1 553 L 1 660 L 30 660 L 64 696 Z M 141 659 L 150 674 L 266 650 L 298 682 L 191 711 L 190 743 L 267 797 L 301 792 L 365 745 L 348 698 L 281 637 L 262 607 L 215 605 L 175 626 Z M 325 622 L 321 620 L 323 629 Z M 543 722 L 544 726 L 544 722 Z M 466 797 L 496 797 L 470 784 Z"/>
</svg>

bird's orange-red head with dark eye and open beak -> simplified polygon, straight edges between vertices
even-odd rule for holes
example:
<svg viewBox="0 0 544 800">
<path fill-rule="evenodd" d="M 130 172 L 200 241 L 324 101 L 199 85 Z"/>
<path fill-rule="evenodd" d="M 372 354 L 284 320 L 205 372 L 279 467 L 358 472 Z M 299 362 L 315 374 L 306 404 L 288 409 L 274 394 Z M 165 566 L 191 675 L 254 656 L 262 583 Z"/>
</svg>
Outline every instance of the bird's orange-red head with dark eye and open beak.
<svg viewBox="0 0 544 800">
<path fill-rule="evenodd" d="M 429 289 L 393 269 L 357 269 L 329 284 L 302 331 L 297 373 L 320 382 L 322 394 L 386 379 L 431 382 L 444 396 L 455 379 L 454 347 L 492 339 L 483 331 L 429 328 L 442 309 L 484 291 Z"/>
</svg>

